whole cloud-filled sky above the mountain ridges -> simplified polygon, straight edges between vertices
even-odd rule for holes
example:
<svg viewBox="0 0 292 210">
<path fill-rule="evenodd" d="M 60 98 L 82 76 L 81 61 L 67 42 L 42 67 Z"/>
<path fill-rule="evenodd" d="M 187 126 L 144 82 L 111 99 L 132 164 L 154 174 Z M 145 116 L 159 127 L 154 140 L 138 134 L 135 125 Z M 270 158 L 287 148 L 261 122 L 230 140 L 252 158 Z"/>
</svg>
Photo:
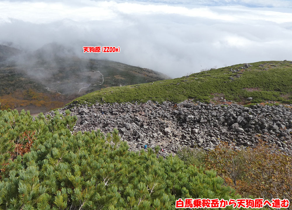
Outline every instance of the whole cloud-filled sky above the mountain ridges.
<svg viewBox="0 0 292 210">
<path fill-rule="evenodd" d="M 292 60 L 292 1 L 0 1 L 0 43 L 35 50 L 53 41 L 171 77 Z M 84 54 L 82 46 L 121 52 Z"/>
</svg>

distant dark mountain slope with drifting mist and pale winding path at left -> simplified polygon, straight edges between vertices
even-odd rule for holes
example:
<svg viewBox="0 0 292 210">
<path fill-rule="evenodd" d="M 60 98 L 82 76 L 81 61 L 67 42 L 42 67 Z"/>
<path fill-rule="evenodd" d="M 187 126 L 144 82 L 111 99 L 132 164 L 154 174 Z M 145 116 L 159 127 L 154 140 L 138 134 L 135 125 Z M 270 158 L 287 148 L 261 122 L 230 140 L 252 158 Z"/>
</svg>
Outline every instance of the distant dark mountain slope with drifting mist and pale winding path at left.
<svg viewBox="0 0 292 210">
<path fill-rule="evenodd" d="M 0 62 L 1 108 L 28 108 L 37 113 L 102 88 L 168 78 L 150 69 L 80 58 L 57 43 L 29 53 L 0 47 L 0 55 L 5 55 Z"/>
</svg>

